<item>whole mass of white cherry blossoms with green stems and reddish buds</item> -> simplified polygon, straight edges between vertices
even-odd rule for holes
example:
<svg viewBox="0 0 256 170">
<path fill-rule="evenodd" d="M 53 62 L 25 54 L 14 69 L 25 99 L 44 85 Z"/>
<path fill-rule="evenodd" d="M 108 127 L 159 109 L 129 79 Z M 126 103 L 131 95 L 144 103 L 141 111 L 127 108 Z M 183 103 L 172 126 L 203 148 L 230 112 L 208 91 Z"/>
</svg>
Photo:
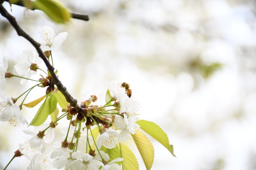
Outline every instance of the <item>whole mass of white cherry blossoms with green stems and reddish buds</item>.
<svg viewBox="0 0 256 170">
<path fill-rule="evenodd" d="M 51 51 L 57 49 L 66 39 L 67 33 L 63 32 L 55 36 L 50 27 L 43 27 L 41 32 L 41 48 L 49 60 Z M 52 57 L 52 56 L 51 56 Z M 17 119 L 23 124 L 28 124 L 21 114 L 23 101 L 18 106 L 16 101 L 25 93 L 29 93 L 34 87 L 47 87 L 46 98 L 57 92 L 51 83 L 51 75 L 39 69 L 38 64 L 41 58 L 32 50 L 23 51 L 24 62 L 17 63 L 14 68 L 19 76 L 7 72 L 8 64 L 5 58 L 0 61 L 0 121 L 9 121 L 15 125 Z M 43 71 L 47 76 L 42 75 L 37 84 L 17 98 L 8 97 L 2 87 L 5 78 L 21 77 L 20 83 L 25 84 L 30 77 Z M 33 80 L 36 81 L 36 80 Z M 127 95 L 127 89 L 120 86 L 117 81 L 112 81 L 109 86 L 108 102 L 102 105 L 93 104 L 97 101 L 96 95 L 90 95 L 89 99 L 80 103 L 80 110 L 68 105 L 61 116 L 50 124 L 41 124 L 34 129 L 24 129 L 23 132 L 31 135 L 26 142 L 20 143 L 15 156 L 25 155 L 31 163 L 27 167 L 32 169 L 102 169 L 121 170 L 122 158 L 110 159 L 105 153 L 106 149 L 118 147 L 122 141 L 129 139 L 130 134 L 135 134 L 140 126 L 136 124 L 141 104 L 134 100 L 134 97 Z M 56 103 L 57 104 L 57 103 Z M 56 108 L 57 110 L 57 108 Z M 49 113 L 50 114 L 50 113 Z M 55 138 L 55 127 L 58 121 L 66 118 L 69 121 L 67 126 L 62 126 L 61 132 L 65 134 L 63 139 L 54 142 L 51 154 L 48 158 L 41 158 L 45 152 L 45 143 L 53 143 Z M 43 123 L 43 122 L 42 122 Z M 31 123 L 30 123 L 31 124 Z M 96 129 L 96 130 L 93 130 Z M 90 133 L 90 134 L 89 134 Z"/>
</svg>

